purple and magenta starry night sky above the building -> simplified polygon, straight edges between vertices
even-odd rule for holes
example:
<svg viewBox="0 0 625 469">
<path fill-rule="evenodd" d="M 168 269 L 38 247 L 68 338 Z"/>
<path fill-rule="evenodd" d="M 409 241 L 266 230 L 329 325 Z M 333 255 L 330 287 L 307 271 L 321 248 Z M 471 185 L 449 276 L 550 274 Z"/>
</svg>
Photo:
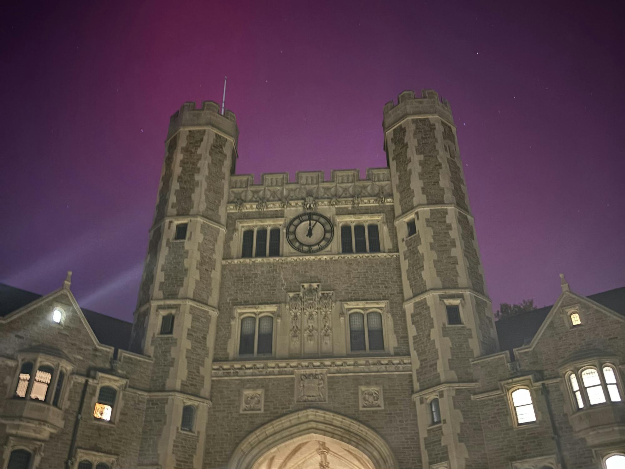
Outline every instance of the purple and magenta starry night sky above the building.
<svg viewBox="0 0 625 469">
<path fill-rule="evenodd" d="M 625 285 L 617 3 L 15 2 L 0 19 L 0 282 L 131 320 L 169 116 L 221 101 L 237 173 L 386 165 L 382 107 L 449 99 L 493 305 Z M 607 6 L 606 6 L 607 5 Z M 566 8 L 564 8 L 566 6 Z M 602 9 L 604 8 L 604 9 Z"/>
</svg>

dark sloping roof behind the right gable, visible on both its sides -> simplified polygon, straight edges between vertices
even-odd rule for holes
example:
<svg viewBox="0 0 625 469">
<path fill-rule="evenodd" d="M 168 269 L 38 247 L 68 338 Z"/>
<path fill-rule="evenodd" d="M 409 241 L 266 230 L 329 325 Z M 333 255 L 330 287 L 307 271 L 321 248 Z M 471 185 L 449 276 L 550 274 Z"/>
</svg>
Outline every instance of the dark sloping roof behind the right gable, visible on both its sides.
<svg viewBox="0 0 625 469">
<path fill-rule="evenodd" d="M 625 316 L 625 286 L 589 295 L 587 298 Z M 541 328 L 542 322 L 549 314 L 549 311 L 551 311 L 551 308 L 553 308 L 553 305 L 497 321 L 495 324 L 497 326 L 497 336 L 499 336 L 499 348 L 501 350 L 510 350 L 510 353 L 512 353 L 513 348 L 530 343 Z"/>
</svg>

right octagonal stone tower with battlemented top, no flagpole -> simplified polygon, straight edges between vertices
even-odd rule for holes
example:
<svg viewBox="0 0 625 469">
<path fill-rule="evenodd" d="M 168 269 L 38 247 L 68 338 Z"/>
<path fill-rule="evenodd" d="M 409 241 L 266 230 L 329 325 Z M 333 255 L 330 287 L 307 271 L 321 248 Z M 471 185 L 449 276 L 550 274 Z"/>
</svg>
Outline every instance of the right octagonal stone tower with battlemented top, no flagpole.
<svg viewBox="0 0 625 469">
<path fill-rule="evenodd" d="M 467 448 L 479 448 L 482 438 L 479 418 L 469 418 L 477 414 L 469 394 L 471 360 L 498 348 L 451 107 L 435 91 L 424 90 L 421 98 L 404 91 L 397 105 L 384 106 L 382 126 L 422 463 L 486 467 L 474 449 L 466 460 Z M 442 425 L 432 425 L 435 398 Z"/>
</svg>

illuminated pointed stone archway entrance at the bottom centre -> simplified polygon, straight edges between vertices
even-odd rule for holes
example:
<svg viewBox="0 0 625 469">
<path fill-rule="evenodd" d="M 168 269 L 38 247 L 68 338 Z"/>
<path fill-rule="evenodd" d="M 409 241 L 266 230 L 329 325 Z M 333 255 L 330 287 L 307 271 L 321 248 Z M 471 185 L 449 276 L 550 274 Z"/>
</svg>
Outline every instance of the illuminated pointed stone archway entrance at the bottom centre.
<svg viewBox="0 0 625 469">
<path fill-rule="evenodd" d="M 325 458 L 325 459 L 324 459 Z M 229 469 L 397 469 L 391 448 L 371 428 L 344 415 L 307 409 L 252 431 Z"/>
</svg>

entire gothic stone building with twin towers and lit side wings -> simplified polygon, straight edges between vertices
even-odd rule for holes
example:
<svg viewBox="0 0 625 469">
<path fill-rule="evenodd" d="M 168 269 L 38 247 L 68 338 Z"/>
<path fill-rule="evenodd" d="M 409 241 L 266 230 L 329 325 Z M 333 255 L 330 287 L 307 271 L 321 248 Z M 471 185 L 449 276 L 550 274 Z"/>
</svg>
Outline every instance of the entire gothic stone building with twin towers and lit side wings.
<svg viewBox="0 0 625 469">
<path fill-rule="evenodd" d="M 496 325 L 449 104 L 382 127 L 364 179 L 255 184 L 184 104 L 133 325 L 2 286 L 0 468 L 625 467 L 625 288 Z"/>
</svg>

